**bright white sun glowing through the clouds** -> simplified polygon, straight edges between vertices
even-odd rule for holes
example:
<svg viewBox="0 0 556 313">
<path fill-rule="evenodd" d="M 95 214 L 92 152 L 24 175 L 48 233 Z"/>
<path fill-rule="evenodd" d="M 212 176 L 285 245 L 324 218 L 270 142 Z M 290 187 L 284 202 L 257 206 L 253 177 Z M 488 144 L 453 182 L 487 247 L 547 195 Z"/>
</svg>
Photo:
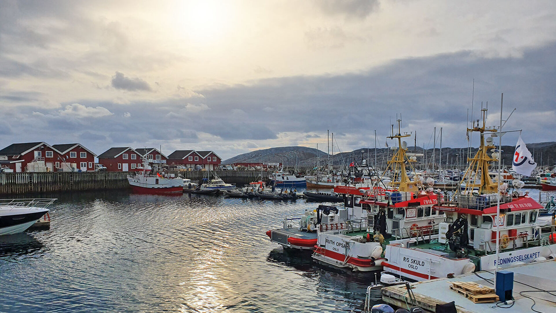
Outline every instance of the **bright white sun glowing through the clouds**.
<svg viewBox="0 0 556 313">
<path fill-rule="evenodd" d="M 230 28 L 230 6 L 227 1 L 183 1 L 175 12 L 179 32 L 197 43 L 219 41 Z"/>
</svg>

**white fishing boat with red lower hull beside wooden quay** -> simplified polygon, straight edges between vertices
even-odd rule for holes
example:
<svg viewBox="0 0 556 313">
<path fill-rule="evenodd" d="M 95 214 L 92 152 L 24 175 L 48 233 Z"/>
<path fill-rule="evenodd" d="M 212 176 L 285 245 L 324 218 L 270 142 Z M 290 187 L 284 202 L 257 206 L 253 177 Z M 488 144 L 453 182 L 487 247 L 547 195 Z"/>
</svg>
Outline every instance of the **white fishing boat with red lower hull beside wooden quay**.
<svg viewBox="0 0 556 313">
<path fill-rule="evenodd" d="M 143 158 L 143 170 L 127 177 L 134 193 L 179 194 L 183 193 L 183 178 L 171 177 L 161 165 L 166 160 Z"/>
</svg>

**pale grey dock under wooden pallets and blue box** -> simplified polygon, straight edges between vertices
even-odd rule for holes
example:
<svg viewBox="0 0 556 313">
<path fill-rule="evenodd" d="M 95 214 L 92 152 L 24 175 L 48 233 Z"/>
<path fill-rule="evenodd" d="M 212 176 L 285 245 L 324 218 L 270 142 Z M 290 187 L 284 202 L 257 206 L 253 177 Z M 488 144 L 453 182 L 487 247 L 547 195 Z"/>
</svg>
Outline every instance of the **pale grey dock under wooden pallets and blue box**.
<svg viewBox="0 0 556 313">
<path fill-rule="evenodd" d="M 504 270 L 514 272 L 513 297 L 515 299 L 515 303 L 509 309 L 497 307 L 495 302 L 474 303 L 465 296 L 451 291 L 448 288 L 450 285 L 449 282 L 452 281 L 476 282 L 485 287 L 494 288 L 494 285 L 491 282 L 483 280 L 482 278 L 476 276 L 475 273 L 459 275 L 454 278 L 439 278 L 436 280 L 411 283 L 415 300 L 417 302 L 416 305 L 426 311 L 434 312 L 436 304 L 444 304 L 446 302 L 455 301 L 457 310 L 460 313 L 491 313 L 502 311 L 505 313 L 521 313 L 532 311 L 531 306 L 533 305 L 533 300 L 525 297 L 530 296 L 534 297 L 536 303 L 533 309 L 547 313 L 556 311 L 556 304 L 549 302 L 556 302 L 556 296 L 554 296 L 556 295 L 556 292 L 552 292 L 554 295 L 550 295 L 547 292 L 539 291 L 539 289 L 555 290 L 554 286 L 556 286 L 556 277 L 547 275 L 547 273 L 556 272 L 556 262 L 554 260 L 527 263 L 516 267 L 505 268 Z M 490 281 L 494 278 L 494 272 L 480 271 L 477 272 L 477 274 Z M 533 287 L 523 285 L 523 283 Z M 522 292 L 522 294 L 520 294 L 520 292 Z M 410 306 L 412 305 L 411 300 L 407 295 L 405 286 L 384 287 L 382 289 L 382 295 L 383 300 L 390 305 L 406 308 L 405 301 L 407 301 Z"/>
</svg>

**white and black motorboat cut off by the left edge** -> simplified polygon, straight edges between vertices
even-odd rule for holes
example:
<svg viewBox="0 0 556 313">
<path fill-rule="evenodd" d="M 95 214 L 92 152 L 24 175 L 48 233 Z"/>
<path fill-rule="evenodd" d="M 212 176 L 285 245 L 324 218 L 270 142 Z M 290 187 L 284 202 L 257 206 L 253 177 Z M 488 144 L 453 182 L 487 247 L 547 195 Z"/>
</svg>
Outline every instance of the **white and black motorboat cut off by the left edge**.
<svg viewBox="0 0 556 313">
<path fill-rule="evenodd" d="M 56 199 L 0 200 L 0 236 L 25 231 L 50 211 Z"/>
</svg>

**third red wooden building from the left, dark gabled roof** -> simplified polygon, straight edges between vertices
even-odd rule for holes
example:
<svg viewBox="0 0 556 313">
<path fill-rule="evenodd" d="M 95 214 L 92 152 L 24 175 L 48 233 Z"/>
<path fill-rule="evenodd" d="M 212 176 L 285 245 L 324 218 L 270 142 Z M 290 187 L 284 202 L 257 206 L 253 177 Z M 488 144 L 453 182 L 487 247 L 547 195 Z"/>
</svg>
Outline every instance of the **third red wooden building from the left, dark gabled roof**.
<svg viewBox="0 0 556 313">
<path fill-rule="evenodd" d="M 135 172 L 143 169 L 141 153 L 131 147 L 110 148 L 97 156 L 108 172 Z"/>
</svg>

